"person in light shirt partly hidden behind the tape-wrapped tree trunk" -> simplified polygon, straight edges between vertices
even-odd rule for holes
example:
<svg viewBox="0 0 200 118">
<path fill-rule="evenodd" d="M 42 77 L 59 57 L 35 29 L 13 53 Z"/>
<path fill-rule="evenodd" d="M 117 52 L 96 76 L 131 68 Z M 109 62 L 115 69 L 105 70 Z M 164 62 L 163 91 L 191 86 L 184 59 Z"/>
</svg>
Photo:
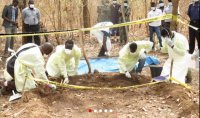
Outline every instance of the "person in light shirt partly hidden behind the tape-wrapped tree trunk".
<svg viewBox="0 0 200 118">
<path fill-rule="evenodd" d="M 164 15 L 165 14 L 172 14 L 173 12 L 173 4 L 172 0 L 168 0 L 169 5 L 165 7 L 164 9 Z M 178 14 L 180 14 L 179 7 L 178 7 Z M 170 23 L 171 23 L 171 18 L 170 19 L 165 19 L 164 27 L 165 28 L 170 28 Z M 176 26 L 176 31 L 177 31 L 177 26 Z"/>
</svg>

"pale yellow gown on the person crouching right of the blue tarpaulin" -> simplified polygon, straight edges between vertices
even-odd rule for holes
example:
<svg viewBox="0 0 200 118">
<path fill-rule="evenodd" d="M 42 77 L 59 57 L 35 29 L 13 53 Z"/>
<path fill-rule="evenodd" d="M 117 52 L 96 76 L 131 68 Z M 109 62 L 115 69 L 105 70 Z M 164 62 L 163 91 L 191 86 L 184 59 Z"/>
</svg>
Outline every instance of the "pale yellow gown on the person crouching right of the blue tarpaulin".
<svg viewBox="0 0 200 118">
<path fill-rule="evenodd" d="M 147 53 L 152 49 L 153 43 L 150 41 L 136 41 L 137 50 L 134 55 L 130 54 L 130 43 L 126 44 L 119 52 L 119 71 L 125 73 L 130 72 L 138 62 L 140 55 L 146 51 Z"/>
</svg>

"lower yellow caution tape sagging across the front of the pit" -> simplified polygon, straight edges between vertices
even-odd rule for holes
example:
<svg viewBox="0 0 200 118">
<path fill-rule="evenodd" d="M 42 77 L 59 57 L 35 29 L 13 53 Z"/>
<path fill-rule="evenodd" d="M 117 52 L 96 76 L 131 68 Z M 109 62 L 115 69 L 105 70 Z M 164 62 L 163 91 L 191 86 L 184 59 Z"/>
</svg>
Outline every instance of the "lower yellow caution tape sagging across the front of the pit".
<svg viewBox="0 0 200 118">
<path fill-rule="evenodd" d="M 28 79 L 37 81 L 37 82 L 42 82 L 45 84 L 53 84 L 59 87 L 65 87 L 65 88 L 75 88 L 75 89 L 92 89 L 92 90 L 127 90 L 127 89 L 133 89 L 133 88 L 138 88 L 138 87 L 143 87 L 143 86 L 148 86 L 148 85 L 154 85 L 162 82 L 167 82 L 168 80 L 163 80 L 160 82 L 152 82 L 148 84 L 142 84 L 142 85 L 135 85 L 135 86 L 128 86 L 128 87 L 116 87 L 116 88 L 101 88 L 101 87 L 87 87 L 87 86 L 77 86 L 77 85 L 69 85 L 69 84 L 62 84 L 58 82 L 53 82 L 53 81 L 48 81 L 48 80 L 41 80 L 41 79 L 36 79 L 36 78 L 31 78 L 27 77 Z"/>
</svg>

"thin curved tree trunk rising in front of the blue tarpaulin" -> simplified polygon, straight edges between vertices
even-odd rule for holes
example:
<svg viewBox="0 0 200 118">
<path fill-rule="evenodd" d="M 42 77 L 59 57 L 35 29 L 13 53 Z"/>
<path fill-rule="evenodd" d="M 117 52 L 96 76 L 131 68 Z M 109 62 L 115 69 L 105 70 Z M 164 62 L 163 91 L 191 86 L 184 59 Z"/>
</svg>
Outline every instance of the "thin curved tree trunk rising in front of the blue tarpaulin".
<svg viewBox="0 0 200 118">
<path fill-rule="evenodd" d="M 81 9 L 82 9 L 82 6 L 81 6 L 81 0 L 79 0 L 79 3 L 78 3 L 78 9 L 77 9 L 77 16 L 78 16 L 78 24 L 79 24 L 79 41 L 80 41 L 80 44 L 81 44 L 81 48 L 82 48 L 82 52 L 83 52 L 83 56 L 88 64 L 88 69 L 89 69 L 89 73 L 91 73 L 91 66 L 90 66 L 90 62 L 85 54 L 85 49 L 84 49 L 84 46 L 83 46 L 83 32 L 81 31 L 81 28 L 82 28 L 82 20 L 81 20 Z"/>
</svg>

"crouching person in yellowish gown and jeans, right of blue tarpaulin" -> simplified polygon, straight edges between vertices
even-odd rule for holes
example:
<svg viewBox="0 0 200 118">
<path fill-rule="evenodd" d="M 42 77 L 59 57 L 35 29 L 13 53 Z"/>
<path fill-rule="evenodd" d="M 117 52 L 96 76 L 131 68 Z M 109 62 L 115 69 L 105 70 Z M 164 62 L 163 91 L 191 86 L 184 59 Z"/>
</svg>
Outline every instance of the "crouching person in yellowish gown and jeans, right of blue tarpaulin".
<svg viewBox="0 0 200 118">
<path fill-rule="evenodd" d="M 145 65 L 146 53 L 152 49 L 152 46 L 153 43 L 150 41 L 135 41 L 126 44 L 119 52 L 120 73 L 131 78 L 130 71 L 135 69 L 135 65 L 139 61 L 136 73 L 140 75 Z"/>
</svg>

